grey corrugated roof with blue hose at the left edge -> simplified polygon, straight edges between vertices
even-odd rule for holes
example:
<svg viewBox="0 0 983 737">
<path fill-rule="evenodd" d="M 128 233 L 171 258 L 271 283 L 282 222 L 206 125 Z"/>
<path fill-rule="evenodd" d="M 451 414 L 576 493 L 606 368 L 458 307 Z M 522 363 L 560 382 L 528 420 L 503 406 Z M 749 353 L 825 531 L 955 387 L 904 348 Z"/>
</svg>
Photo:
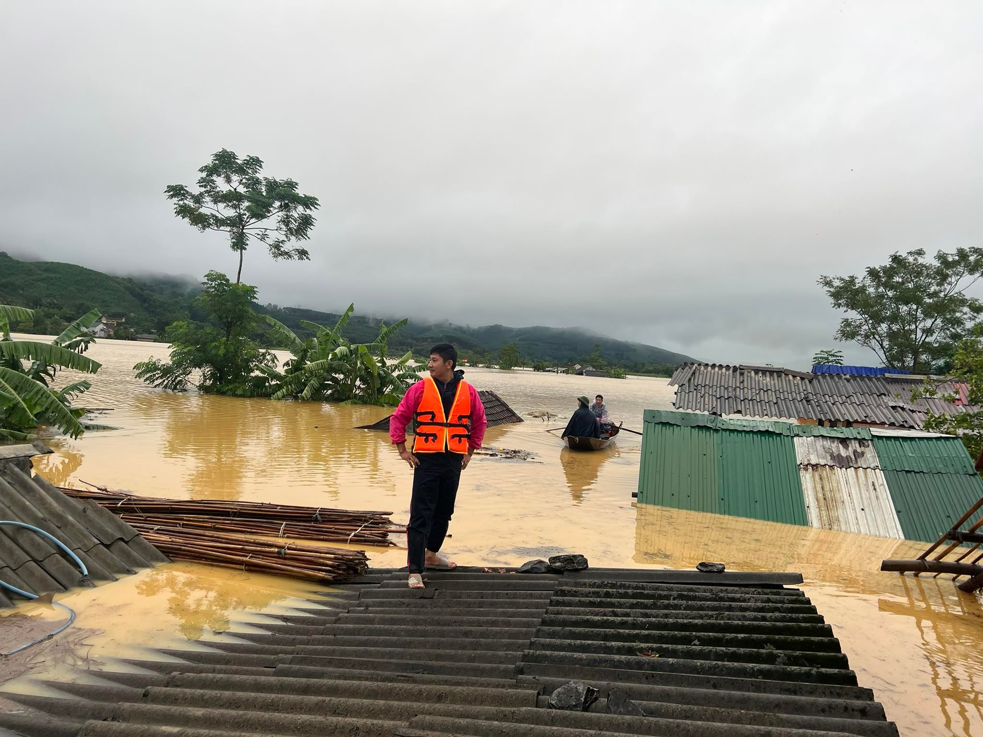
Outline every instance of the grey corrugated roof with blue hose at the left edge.
<svg viewBox="0 0 983 737">
<path fill-rule="evenodd" d="M 0 519 L 24 522 L 62 540 L 95 581 L 115 581 L 167 557 L 98 504 L 69 498 L 41 477 L 0 463 Z M 54 544 L 23 528 L 0 526 L 0 580 L 31 594 L 91 585 Z M 11 605 L 11 600 L 0 600 Z"/>
</svg>

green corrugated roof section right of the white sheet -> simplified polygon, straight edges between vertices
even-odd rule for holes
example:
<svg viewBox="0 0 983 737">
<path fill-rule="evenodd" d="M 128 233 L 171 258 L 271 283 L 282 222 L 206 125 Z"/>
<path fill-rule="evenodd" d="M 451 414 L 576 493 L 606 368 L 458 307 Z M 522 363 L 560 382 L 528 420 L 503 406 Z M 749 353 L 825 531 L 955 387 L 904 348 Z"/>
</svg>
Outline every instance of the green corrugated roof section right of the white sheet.
<svg viewBox="0 0 983 737">
<path fill-rule="evenodd" d="M 885 469 L 884 478 L 904 539 L 935 542 L 983 497 L 983 479 L 975 473 L 923 474 Z M 979 519 L 979 515 L 974 519 Z"/>
</svg>

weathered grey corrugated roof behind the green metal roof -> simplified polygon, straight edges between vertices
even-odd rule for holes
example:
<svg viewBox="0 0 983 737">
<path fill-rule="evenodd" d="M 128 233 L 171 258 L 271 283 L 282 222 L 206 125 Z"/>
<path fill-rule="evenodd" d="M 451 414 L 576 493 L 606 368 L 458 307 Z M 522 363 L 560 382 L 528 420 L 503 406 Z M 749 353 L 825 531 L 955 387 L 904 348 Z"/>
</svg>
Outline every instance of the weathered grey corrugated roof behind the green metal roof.
<svg viewBox="0 0 983 737">
<path fill-rule="evenodd" d="M 669 380 L 678 410 L 716 415 L 806 419 L 921 428 L 926 412 L 959 414 L 979 408 L 939 398 L 911 401 L 924 377 L 803 373 L 771 367 L 686 364 Z M 933 382 L 940 394 L 952 381 Z"/>
</svg>

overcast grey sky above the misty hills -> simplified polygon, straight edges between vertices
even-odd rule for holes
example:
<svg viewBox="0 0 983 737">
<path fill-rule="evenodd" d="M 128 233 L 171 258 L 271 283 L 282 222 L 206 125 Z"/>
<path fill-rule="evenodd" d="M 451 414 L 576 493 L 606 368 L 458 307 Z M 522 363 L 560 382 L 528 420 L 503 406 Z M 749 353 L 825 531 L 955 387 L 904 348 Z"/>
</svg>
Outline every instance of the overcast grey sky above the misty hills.
<svg viewBox="0 0 983 737">
<path fill-rule="evenodd" d="M 976 0 L 0 9 L 12 255 L 234 275 L 162 194 L 226 147 L 321 202 L 261 302 L 804 368 L 820 274 L 983 245 Z"/>
</svg>

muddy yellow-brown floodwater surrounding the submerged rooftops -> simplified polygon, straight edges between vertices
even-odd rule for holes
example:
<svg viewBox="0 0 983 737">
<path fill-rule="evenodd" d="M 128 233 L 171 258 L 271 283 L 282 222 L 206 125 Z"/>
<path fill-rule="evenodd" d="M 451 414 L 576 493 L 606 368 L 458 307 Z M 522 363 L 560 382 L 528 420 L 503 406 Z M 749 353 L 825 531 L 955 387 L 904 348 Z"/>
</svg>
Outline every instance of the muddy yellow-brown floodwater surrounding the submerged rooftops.
<svg viewBox="0 0 983 737">
<path fill-rule="evenodd" d="M 102 341 L 90 354 L 90 407 L 111 409 L 80 440 L 52 438 L 54 455 L 36 459 L 51 482 L 86 482 L 174 498 L 213 498 L 381 509 L 408 518 L 412 473 L 384 433 L 353 429 L 388 414 L 380 408 L 174 394 L 145 387 L 132 367 L 164 346 Z M 596 566 L 690 568 L 701 560 L 728 568 L 800 571 L 803 589 L 833 626 L 863 686 L 905 737 L 983 734 L 983 609 L 947 578 L 881 573 L 886 557 L 912 557 L 920 543 L 633 505 L 641 438 L 575 454 L 558 433 L 575 397 L 605 395 L 611 417 L 641 429 L 645 409 L 670 409 L 665 379 L 584 378 L 529 371 L 468 370 L 526 418 L 492 428 L 490 448 L 531 451 L 527 461 L 475 457 L 462 474 L 446 550 L 463 564 L 517 565 L 557 552 L 581 552 Z M 529 417 L 549 411 L 558 419 Z M 400 543 L 403 539 L 399 539 Z M 373 548 L 379 566 L 405 565 L 405 549 Z M 189 649 L 222 638 L 247 611 L 282 612 L 315 587 L 257 574 L 176 563 L 94 591 L 59 596 L 79 613 L 54 641 L 6 661 L 7 677 L 65 669 L 96 670 L 147 648 Z M 13 633 L 56 622 L 49 607 L 22 607 L 0 619 L 0 645 Z M 255 620 L 254 620 L 255 621 Z M 16 625 L 16 626 L 15 626 Z M 43 630 L 43 627 L 41 627 Z M 22 638 L 23 640 L 23 638 Z M 12 643 L 13 644 L 13 643 Z M 13 670 L 12 670 L 13 669 Z M 20 670 L 18 670 L 20 669 Z M 26 676 L 5 688 L 34 689 Z"/>
</svg>

